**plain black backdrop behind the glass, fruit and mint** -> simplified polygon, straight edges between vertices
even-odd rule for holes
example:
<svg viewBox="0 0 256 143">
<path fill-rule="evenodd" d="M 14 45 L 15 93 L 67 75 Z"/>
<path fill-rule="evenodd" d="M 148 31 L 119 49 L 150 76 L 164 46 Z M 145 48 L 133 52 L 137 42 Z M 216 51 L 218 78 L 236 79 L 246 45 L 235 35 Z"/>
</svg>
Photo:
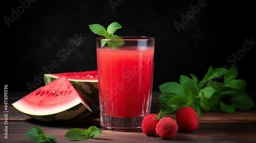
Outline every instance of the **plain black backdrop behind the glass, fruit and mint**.
<svg viewBox="0 0 256 143">
<path fill-rule="evenodd" d="M 25 1 L 29 2 L 22 0 Z M 117 21 L 123 27 L 116 31 L 119 36 L 156 38 L 154 91 L 164 82 L 178 82 L 181 74 L 191 73 L 201 79 L 209 66 L 231 65 L 237 66 L 238 78 L 247 81 L 247 88 L 255 91 L 256 44 L 243 51 L 245 39 L 256 42 L 255 5 L 251 1 L 205 1 L 206 6 L 178 32 L 174 22 L 182 23 L 181 14 L 187 15 L 191 11 L 189 6 L 198 2 L 38 0 L 30 2 L 8 27 L 5 17 L 11 18 L 11 9 L 17 12 L 22 4 L 3 1 L 2 81 L 8 84 L 10 92 L 29 91 L 27 83 L 35 85 L 34 76 L 45 72 L 42 66 L 50 66 L 53 60 L 59 66 L 52 68 L 51 73 L 96 69 L 98 35 L 88 25 L 99 23 L 107 27 Z M 75 34 L 86 39 L 62 61 L 56 54 L 73 42 Z M 239 51 L 239 59 L 227 60 Z M 43 81 L 35 86 L 42 85 Z"/>
</svg>

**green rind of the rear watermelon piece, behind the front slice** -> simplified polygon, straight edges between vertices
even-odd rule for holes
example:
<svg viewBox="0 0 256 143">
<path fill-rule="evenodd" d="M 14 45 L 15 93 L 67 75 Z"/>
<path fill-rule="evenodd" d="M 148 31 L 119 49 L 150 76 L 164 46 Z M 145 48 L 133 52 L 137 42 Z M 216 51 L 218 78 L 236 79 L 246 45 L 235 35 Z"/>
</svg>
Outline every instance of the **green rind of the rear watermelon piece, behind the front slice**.
<svg viewBox="0 0 256 143">
<path fill-rule="evenodd" d="M 52 77 L 51 74 L 44 75 L 45 84 L 56 80 L 57 78 Z M 88 81 L 77 81 L 68 79 L 70 83 L 74 86 L 77 92 L 80 94 L 82 99 L 89 105 L 93 112 L 97 114 L 99 108 L 95 109 L 96 106 L 99 107 L 99 90 L 98 82 L 88 82 Z"/>
</svg>

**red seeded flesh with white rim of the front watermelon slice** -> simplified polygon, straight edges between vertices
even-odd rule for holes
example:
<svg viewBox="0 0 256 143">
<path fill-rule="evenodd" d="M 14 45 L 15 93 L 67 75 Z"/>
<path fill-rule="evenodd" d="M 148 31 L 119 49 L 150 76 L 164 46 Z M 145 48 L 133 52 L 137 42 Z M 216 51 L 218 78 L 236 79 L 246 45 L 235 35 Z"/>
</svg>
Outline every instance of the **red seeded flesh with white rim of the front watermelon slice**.
<svg viewBox="0 0 256 143">
<path fill-rule="evenodd" d="M 50 115 L 68 110 L 80 103 L 92 112 L 67 77 L 61 76 L 32 91 L 12 105 L 25 114 Z"/>
</svg>

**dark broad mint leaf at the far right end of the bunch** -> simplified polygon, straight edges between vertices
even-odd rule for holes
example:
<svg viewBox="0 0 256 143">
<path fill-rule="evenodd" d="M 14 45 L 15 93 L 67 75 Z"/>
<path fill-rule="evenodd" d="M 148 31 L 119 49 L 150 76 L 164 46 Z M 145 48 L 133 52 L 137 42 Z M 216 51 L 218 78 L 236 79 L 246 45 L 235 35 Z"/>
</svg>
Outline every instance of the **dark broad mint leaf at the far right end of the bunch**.
<svg viewBox="0 0 256 143">
<path fill-rule="evenodd" d="M 231 103 L 241 110 L 248 110 L 254 107 L 254 102 L 248 94 L 239 94 L 231 99 Z"/>
</svg>

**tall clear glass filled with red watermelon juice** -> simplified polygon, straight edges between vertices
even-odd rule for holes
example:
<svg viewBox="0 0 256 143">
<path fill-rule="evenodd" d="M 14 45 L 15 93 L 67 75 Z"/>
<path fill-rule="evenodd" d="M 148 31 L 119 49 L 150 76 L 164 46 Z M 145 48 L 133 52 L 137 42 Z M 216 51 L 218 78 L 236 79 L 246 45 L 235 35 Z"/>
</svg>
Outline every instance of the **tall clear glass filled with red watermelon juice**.
<svg viewBox="0 0 256 143">
<path fill-rule="evenodd" d="M 108 45 L 124 42 L 117 49 Z M 110 43 L 108 43 L 110 42 Z M 101 47 L 101 44 L 105 43 Z M 141 130 L 151 111 L 155 38 L 96 39 L 100 124 L 117 131 Z"/>
</svg>

